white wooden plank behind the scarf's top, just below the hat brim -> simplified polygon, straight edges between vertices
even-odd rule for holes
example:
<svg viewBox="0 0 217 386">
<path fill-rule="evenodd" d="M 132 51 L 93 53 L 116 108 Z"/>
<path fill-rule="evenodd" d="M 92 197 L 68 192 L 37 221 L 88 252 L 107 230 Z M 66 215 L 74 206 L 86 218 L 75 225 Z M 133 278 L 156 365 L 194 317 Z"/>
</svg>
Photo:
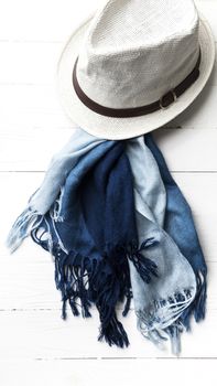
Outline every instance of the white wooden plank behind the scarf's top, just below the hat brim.
<svg viewBox="0 0 217 386">
<path fill-rule="evenodd" d="M 0 171 L 43 172 L 47 169 L 52 156 L 62 149 L 74 131 L 70 126 L 56 128 L 58 117 L 55 114 L 50 118 L 46 117 L 50 128 L 14 126 L 0 131 Z M 217 171 L 217 130 L 209 129 L 208 125 L 198 129 L 161 128 L 153 136 L 171 171 Z"/>
</svg>

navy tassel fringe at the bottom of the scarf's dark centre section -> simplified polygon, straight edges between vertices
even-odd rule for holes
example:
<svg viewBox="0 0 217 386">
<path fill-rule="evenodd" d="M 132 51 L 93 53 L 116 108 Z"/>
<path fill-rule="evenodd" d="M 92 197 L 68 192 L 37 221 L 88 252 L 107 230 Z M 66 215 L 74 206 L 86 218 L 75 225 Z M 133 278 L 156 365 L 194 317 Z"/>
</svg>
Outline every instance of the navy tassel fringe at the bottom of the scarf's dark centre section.
<svg viewBox="0 0 217 386">
<path fill-rule="evenodd" d="M 79 255 L 65 255 L 63 251 L 55 257 L 55 282 L 62 292 L 62 318 L 66 319 L 66 303 L 68 301 L 74 315 L 91 317 L 89 311 L 93 303 L 99 312 L 99 341 L 116 344 L 118 347 L 129 345 L 128 335 L 116 315 L 116 304 L 122 298 L 117 278 L 111 272 L 104 271 L 106 261 L 90 260 Z M 77 303 L 79 299 L 80 304 Z M 129 310 L 129 297 L 123 314 Z"/>
</svg>

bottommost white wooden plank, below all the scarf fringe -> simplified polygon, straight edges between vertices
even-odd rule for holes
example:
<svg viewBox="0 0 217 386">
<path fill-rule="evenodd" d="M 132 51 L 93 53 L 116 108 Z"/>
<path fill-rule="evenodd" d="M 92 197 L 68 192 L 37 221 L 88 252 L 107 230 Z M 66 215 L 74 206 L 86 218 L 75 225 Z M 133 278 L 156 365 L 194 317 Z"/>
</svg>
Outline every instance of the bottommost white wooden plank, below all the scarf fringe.
<svg viewBox="0 0 217 386">
<path fill-rule="evenodd" d="M 216 384 L 216 361 L 203 358 L 164 360 L 55 360 L 2 361 L 0 382 L 3 386 L 131 386 L 135 382 L 154 382 L 162 386 Z"/>
</svg>

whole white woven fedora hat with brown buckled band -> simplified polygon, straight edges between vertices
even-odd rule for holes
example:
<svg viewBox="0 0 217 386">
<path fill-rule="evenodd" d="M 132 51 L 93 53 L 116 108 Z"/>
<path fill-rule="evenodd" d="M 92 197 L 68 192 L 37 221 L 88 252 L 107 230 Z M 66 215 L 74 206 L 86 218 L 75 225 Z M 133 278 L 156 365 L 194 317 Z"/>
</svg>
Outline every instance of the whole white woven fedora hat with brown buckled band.
<svg viewBox="0 0 217 386">
<path fill-rule="evenodd" d="M 108 0 L 65 45 L 58 90 L 80 128 L 127 139 L 181 114 L 214 61 L 210 28 L 193 0 Z"/>
</svg>

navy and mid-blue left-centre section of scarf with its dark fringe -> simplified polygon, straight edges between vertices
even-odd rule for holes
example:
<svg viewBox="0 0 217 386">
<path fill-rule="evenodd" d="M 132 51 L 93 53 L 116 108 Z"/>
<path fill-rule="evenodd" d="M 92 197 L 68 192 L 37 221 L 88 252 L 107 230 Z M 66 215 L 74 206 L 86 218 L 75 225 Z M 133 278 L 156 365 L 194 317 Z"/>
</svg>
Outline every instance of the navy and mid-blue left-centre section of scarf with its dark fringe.
<svg viewBox="0 0 217 386">
<path fill-rule="evenodd" d="M 66 318 L 67 301 L 74 314 L 78 314 L 76 303 L 80 299 L 84 317 L 90 315 L 89 307 L 94 302 L 101 322 L 99 340 L 123 346 L 129 341 L 115 308 L 127 297 L 123 314 L 129 310 L 131 286 L 127 251 L 131 245 L 138 245 L 138 234 L 132 173 L 124 141 L 116 142 L 100 159 L 96 157 L 108 143 L 93 149 L 66 178 L 59 199 L 59 216 L 64 221 L 54 222 L 50 211 L 40 228 L 48 232 L 53 242 L 63 318 Z M 40 229 L 32 232 L 34 242 L 51 249 L 48 239 L 43 240 L 40 234 Z"/>
</svg>

